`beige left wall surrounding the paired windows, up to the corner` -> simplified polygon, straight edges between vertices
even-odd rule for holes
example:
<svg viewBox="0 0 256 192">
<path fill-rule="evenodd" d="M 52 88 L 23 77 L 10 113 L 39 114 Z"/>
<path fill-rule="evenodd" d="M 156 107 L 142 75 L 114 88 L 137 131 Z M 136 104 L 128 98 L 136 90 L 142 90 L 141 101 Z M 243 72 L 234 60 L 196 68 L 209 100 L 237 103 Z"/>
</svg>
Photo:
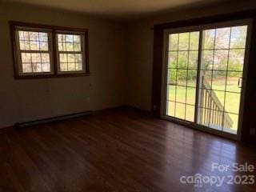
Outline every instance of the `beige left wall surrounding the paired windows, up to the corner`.
<svg viewBox="0 0 256 192">
<path fill-rule="evenodd" d="M 90 77 L 14 80 L 9 20 L 87 28 Z M 34 6 L 0 5 L 0 127 L 123 105 L 123 32 L 118 22 Z"/>
</svg>

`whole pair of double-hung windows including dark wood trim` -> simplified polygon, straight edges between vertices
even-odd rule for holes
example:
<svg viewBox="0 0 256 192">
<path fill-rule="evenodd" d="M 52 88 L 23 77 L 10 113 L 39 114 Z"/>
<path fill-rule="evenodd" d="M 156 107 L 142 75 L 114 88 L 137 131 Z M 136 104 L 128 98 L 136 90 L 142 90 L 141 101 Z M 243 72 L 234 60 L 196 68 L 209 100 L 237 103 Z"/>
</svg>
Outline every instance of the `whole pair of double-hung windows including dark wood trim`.
<svg viewBox="0 0 256 192">
<path fill-rule="evenodd" d="M 89 74 L 87 30 L 10 22 L 15 78 Z"/>
</svg>

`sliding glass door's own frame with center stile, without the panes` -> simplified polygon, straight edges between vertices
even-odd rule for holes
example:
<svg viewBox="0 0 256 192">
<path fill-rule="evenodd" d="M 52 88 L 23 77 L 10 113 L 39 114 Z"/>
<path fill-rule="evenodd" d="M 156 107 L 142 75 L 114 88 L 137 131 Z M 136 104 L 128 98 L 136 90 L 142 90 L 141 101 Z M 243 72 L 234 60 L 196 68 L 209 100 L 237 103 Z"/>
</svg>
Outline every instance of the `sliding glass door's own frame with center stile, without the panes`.
<svg viewBox="0 0 256 192">
<path fill-rule="evenodd" d="M 164 42 L 163 42 L 163 63 L 162 63 L 162 102 L 161 102 L 161 118 L 165 118 L 171 120 L 173 122 L 184 122 L 190 126 L 193 126 L 199 130 L 207 131 L 210 130 L 210 133 L 219 134 L 226 138 L 232 138 L 234 140 L 241 139 L 241 129 L 242 129 L 242 113 L 244 109 L 244 95 L 245 95 L 245 88 L 246 88 L 246 75 L 247 75 L 247 66 L 248 66 L 248 57 L 249 57 L 249 50 L 250 50 L 250 31 L 251 31 L 252 20 L 251 19 L 242 19 L 236 20 L 231 22 L 218 22 L 218 23 L 211 23 L 210 25 L 202 25 L 202 26 L 189 26 L 189 27 L 182 27 L 177 29 L 168 29 L 164 30 Z M 198 124 L 198 102 L 199 102 L 199 84 L 200 84 L 200 73 L 201 73 L 201 64 L 202 64 L 202 35 L 203 30 L 210 30 L 210 29 L 217 29 L 221 27 L 232 27 L 232 26 L 247 26 L 246 31 L 246 52 L 244 57 L 244 65 L 242 71 L 242 90 L 241 90 L 241 98 L 240 98 L 240 106 L 239 106 L 239 115 L 238 115 L 238 131 L 237 134 L 230 134 L 224 132 L 223 130 L 214 130 L 208 126 L 202 126 Z M 166 115 L 166 95 L 167 95 L 167 66 L 168 66 L 168 52 L 169 52 L 169 37 L 170 34 L 178 34 L 178 33 L 187 33 L 187 32 L 199 32 L 199 42 L 198 42 L 198 68 L 197 68 L 197 82 L 196 82 L 196 100 L 195 100 L 195 107 L 194 107 L 194 122 L 187 122 L 183 119 L 173 118 Z M 230 34 L 231 35 L 231 34 Z M 225 134 L 223 134 L 225 133 Z"/>
</svg>

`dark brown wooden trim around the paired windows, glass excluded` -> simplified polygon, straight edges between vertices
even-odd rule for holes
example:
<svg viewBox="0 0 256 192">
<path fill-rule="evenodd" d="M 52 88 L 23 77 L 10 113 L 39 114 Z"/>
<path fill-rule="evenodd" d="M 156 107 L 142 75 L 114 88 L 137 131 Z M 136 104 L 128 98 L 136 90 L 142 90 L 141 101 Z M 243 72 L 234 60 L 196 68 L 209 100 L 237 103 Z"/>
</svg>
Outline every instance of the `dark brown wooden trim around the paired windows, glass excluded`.
<svg viewBox="0 0 256 192">
<path fill-rule="evenodd" d="M 15 79 L 33 79 L 33 78 L 66 78 L 66 77 L 81 77 L 81 76 L 89 76 L 89 50 L 88 50 L 88 30 L 83 28 L 73 28 L 73 27 L 66 27 L 66 26 L 49 26 L 49 25 L 42 25 L 37 23 L 28 23 L 28 22 L 15 22 L 10 21 L 10 39 L 11 39 L 11 48 L 12 48 L 12 56 L 13 56 L 13 65 L 14 65 L 14 78 Z M 52 52 L 52 63 L 53 66 L 53 73 L 52 74 L 20 74 L 18 71 L 18 54 L 17 53 L 17 46 L 18 42 L 16 40 L 15 31 L 16 27 L 29 27 L 34 28 L 37 30 L 51 30 L 51 52 Z M 71 34 L 83 34 L 84 36 L 84 45 L 83 45 L 83 58 L 85 59 L 85 71 L 82 72 L 69 72 L 69 73 L 59 73 L 58 74 L 58 59 L 57 59 L 57 45 L 56 45 L 56 36 L 58 31 L 67 31 Z"/>
</svg>

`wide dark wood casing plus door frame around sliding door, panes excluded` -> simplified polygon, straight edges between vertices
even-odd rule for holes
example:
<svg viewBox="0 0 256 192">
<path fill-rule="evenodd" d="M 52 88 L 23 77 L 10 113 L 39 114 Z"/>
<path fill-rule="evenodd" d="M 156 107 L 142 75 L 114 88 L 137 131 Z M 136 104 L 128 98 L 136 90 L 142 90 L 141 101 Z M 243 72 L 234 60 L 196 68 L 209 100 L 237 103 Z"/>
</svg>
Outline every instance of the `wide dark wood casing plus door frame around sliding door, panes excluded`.
<svg viewBox="0 0 256 192">
<path fill-rule="evenodd" d="M 219 28 L 224 26 L 236 26 L 236 22 L 244 22 L 244 25 L 248 25 L 248 28 L 254 28 L 255 24 L 255 15 L 256 10 L 250 10 L 245 12 L 238 12 L 233 14 L 223 14 L 223 15 L 217 15 L 213 17 L 207 17 L 207 18 L 195 18 L 191 20 L 185 20 L 181 22 L 171 22 L 171 23 L 165 23 L 154 26 L 154 66 L 153 66 L 153 83 L 152 83 L 152 112 L 155 116 L 158 116 L 160 118 L 165 118 L 167 120 L 170 120 L 172 122 L 176 122 L 178 124 L 182 124 L 184 126 L 189 126 L 194 129 L 203 130 L 206 132 L 210 132 L 212 134 L 217 134 L 222 137 L 231 138 L 234 140 L 240 140 L 242 137 L 242 132 L 246 133 L 244 130 L 242 131 L 242 127 L 245 126 L 245 123 L 243 122 L 243 108 L 245 104 L 245 94 L 246 94 L 246 79 L 247 79 L 247 68 L 249 66 L 249 62 L 251 62 L 251 52 L 250 45 L 246 45 L 246 55 L 245 55 L 245 65 L 243 69 L 243 78 L 245 79 L 243 81 L 243 90 L 241 94 L 241 103 L 240 103 L 240 110 L 239 113 L 241 114 L 239 117 L 238 122 L 238 134 L 229 134 L 226 132 L 222 132 L 219 130 L 209 129 L 206 126 L 198 125 L 196 122 L 186 122 L 183 120 L 180 120 L 178 118 L 171 118 L 169 116 L 166 116 L 166 33 L 178 33 L 178 32 L 189 32 L 198 30 L 200 32 L 200 37 L 202 37 L 202 30 L 204 30 L 204 27 L 206 29 L 210 28 Z M 247 22 L 246 22 L 247 21 Z M 250 22 L 248 23 L 248 21 Z M 230 25 L 232 23 L 232 25 Z M 234 24 L 233 24 L 234 23 Z M 214 26 L 212 26 L 214 24 Z M 229 25 L 228 25 L 229 24 Z M 241 25 L 238 24 L 238 25 Z M 199 27 L 198 27 L 199 26 Z M 203 26 L 203 27 L 202 27 Z M 184 30 L 186 29 L 186 30 Z M 247 39 L 246 42 L 250 44 L 250 36 L 252 33 L 250 33 L 251 29 L 247 30 Z M 255 31 L 255 30 L 254 30 Z M 159 42 L 159 40 L 162 39 L 162 42 Z M 158 42 L 157 42 L 158 41 Z M 201 39 L 202 41 L 202 39 Z M 162 48 L 160 47 L 162 46 Z M 201 49 L 201 46 L 199 46 L 199 49 Z M 162 50 L 160 52 L 160 50 Z M 201 51 L 199 51 L 200 53 Z M 249 58 L 250 55 L 250 58 Z M 199 58 L 198 58 L 199 59 Z M 199 62 L 198 62 L 199 63 Z M 161 64 L 161 65 L 160 65 Z M 161 69 L 159 69 L 161 67 Z M 200 70 L 200 68 L 198 69 Z M 156 73 L 158 72 L 158 74 Z M 160 76 L 161 74 L 161 76 Z M 164 75 L 162 75 L 164 74 Z M 161 78 L 159 78 L 159 76 Z M 158 78 L 158 79 L 157 79 Z M 158 85 L 158 90 L 161 88 L 160 93 L 159 91 L 156 91 L 156 87 Z M 160 87 L 159 87 L 160 85 Z M 197 89 L 198 94 L 198 89 Z M 198 100 L 198 95 L 197 98 Z M 198 102 L 198 101 L 196 101 Z M 198 103 L 196 103 L 198 106 Z M 197 115 L 195 115 L 197 116 Z M 197 117 L 195 117 L 196 120 Z"/>
</svg>

